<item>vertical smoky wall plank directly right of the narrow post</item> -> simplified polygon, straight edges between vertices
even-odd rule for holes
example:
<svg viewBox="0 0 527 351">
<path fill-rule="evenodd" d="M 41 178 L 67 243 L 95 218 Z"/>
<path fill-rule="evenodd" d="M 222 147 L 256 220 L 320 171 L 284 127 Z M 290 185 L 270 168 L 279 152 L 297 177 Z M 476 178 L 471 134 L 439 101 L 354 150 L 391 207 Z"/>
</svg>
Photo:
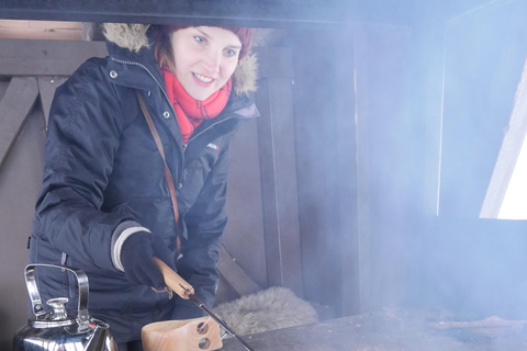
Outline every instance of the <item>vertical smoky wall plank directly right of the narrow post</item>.
<svg viewBox="0 0 527 351">
<path fill-rule="evenodd" d="M 334 122 L 339 94 L 336 93 L 335 84 L 339 77 L 336 75 L 340 70 L 339 63 L 346 63 L 352 69 L 352 60 L 349 61 L 344 56 L 335 59 L 335 43 L 341 45 L 341 41 L 334 31 L 299 31 L 294 33 L 292 42 L 294 53 L 299 53 L 294 65 L 294 120 L 299 146 L 296 176 L 304 298 L 322 305 L 338 306 L 335 310 L 340 312 L 344 250 L 340 250 L 339 174 L 336 167 L 338 125 Z M 313 47 L 316 47 L 317 54 L 307 55 Z M 343 47 L 352 53 L 352 46 Z M 329 69 L 313 69 L 324 65 Z M 349 106 L 351 100 L 347 98 L 346 102 Z M 324 258 L 324 264 L 313 258 Z"/>
</svg>

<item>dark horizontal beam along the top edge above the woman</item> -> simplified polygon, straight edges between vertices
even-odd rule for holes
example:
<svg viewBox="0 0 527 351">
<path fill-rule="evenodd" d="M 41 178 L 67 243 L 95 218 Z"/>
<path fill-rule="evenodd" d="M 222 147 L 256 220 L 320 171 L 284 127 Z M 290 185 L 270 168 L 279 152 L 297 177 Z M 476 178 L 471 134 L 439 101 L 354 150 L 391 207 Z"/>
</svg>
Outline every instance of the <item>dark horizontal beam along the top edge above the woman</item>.
<svg viewBox="0 0 527 351">
<path fill-rule="evenodd" d="M 328 5 L 323 1 L 231 1 L 231 0 L 158 0 L 106 1 L 70 0 L 49 5 L 42 0 L 8 0 L 0 18 L 18 20 L 124 22 L 187 25 L 228 25 L 276 27 L 284 25 L 325 25 L 349 20 L 345 0 Z M 338 5 L 337 5 L 338 4 Z"/>
</svg>

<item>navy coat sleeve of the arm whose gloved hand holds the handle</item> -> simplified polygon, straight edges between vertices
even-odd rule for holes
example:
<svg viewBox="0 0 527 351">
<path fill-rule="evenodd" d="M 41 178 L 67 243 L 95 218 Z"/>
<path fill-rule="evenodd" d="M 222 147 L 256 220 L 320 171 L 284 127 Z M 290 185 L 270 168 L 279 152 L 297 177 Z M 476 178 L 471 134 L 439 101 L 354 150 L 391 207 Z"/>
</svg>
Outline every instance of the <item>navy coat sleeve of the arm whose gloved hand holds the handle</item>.
<svg viewBox="0 0 527 351">
<path fill-rule="evenodd" d="M 85 63 L 56 91 L 33 235 L 81 269 L 115 270 L 112 233 L 132 218 L 100 211 L 122 129 L 120 102 L 101 65 Z"/>
</svg>

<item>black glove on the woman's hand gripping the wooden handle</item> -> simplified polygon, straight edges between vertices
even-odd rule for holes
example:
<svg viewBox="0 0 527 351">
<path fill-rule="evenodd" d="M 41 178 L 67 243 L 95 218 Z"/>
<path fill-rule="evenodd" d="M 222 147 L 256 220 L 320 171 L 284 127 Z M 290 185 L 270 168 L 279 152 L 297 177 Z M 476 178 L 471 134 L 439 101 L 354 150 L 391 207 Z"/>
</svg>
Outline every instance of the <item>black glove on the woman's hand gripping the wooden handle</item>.
<svg viewBox="0 0 527 351">
<path fill-rule="evenodd" d="M 153 261 L 154 257 L 167 263 L 176 272 L 173 254 L 160 237 L 145 231 L 134 233 L 127 237 L 121 248 L 121 263 L 126 279 L 134 284 L 164 290 L 167 284 Z"/>
</svg>

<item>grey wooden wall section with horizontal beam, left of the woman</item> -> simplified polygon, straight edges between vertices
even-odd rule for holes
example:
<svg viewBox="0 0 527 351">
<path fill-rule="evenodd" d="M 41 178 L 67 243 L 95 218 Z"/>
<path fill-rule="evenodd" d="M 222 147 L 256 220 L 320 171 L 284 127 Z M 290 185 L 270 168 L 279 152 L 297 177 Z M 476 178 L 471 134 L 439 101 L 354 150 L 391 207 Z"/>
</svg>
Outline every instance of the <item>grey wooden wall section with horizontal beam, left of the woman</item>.
<svg viewBox="0 0 527 351">
<path fill-rule="evenodd" d="M 72 45 L 69 46 L 68 45 Z M 26 324 L 24 267 L 54 91 L 101 43 L 0 39 L 0 349 Z"/>
</svg>

